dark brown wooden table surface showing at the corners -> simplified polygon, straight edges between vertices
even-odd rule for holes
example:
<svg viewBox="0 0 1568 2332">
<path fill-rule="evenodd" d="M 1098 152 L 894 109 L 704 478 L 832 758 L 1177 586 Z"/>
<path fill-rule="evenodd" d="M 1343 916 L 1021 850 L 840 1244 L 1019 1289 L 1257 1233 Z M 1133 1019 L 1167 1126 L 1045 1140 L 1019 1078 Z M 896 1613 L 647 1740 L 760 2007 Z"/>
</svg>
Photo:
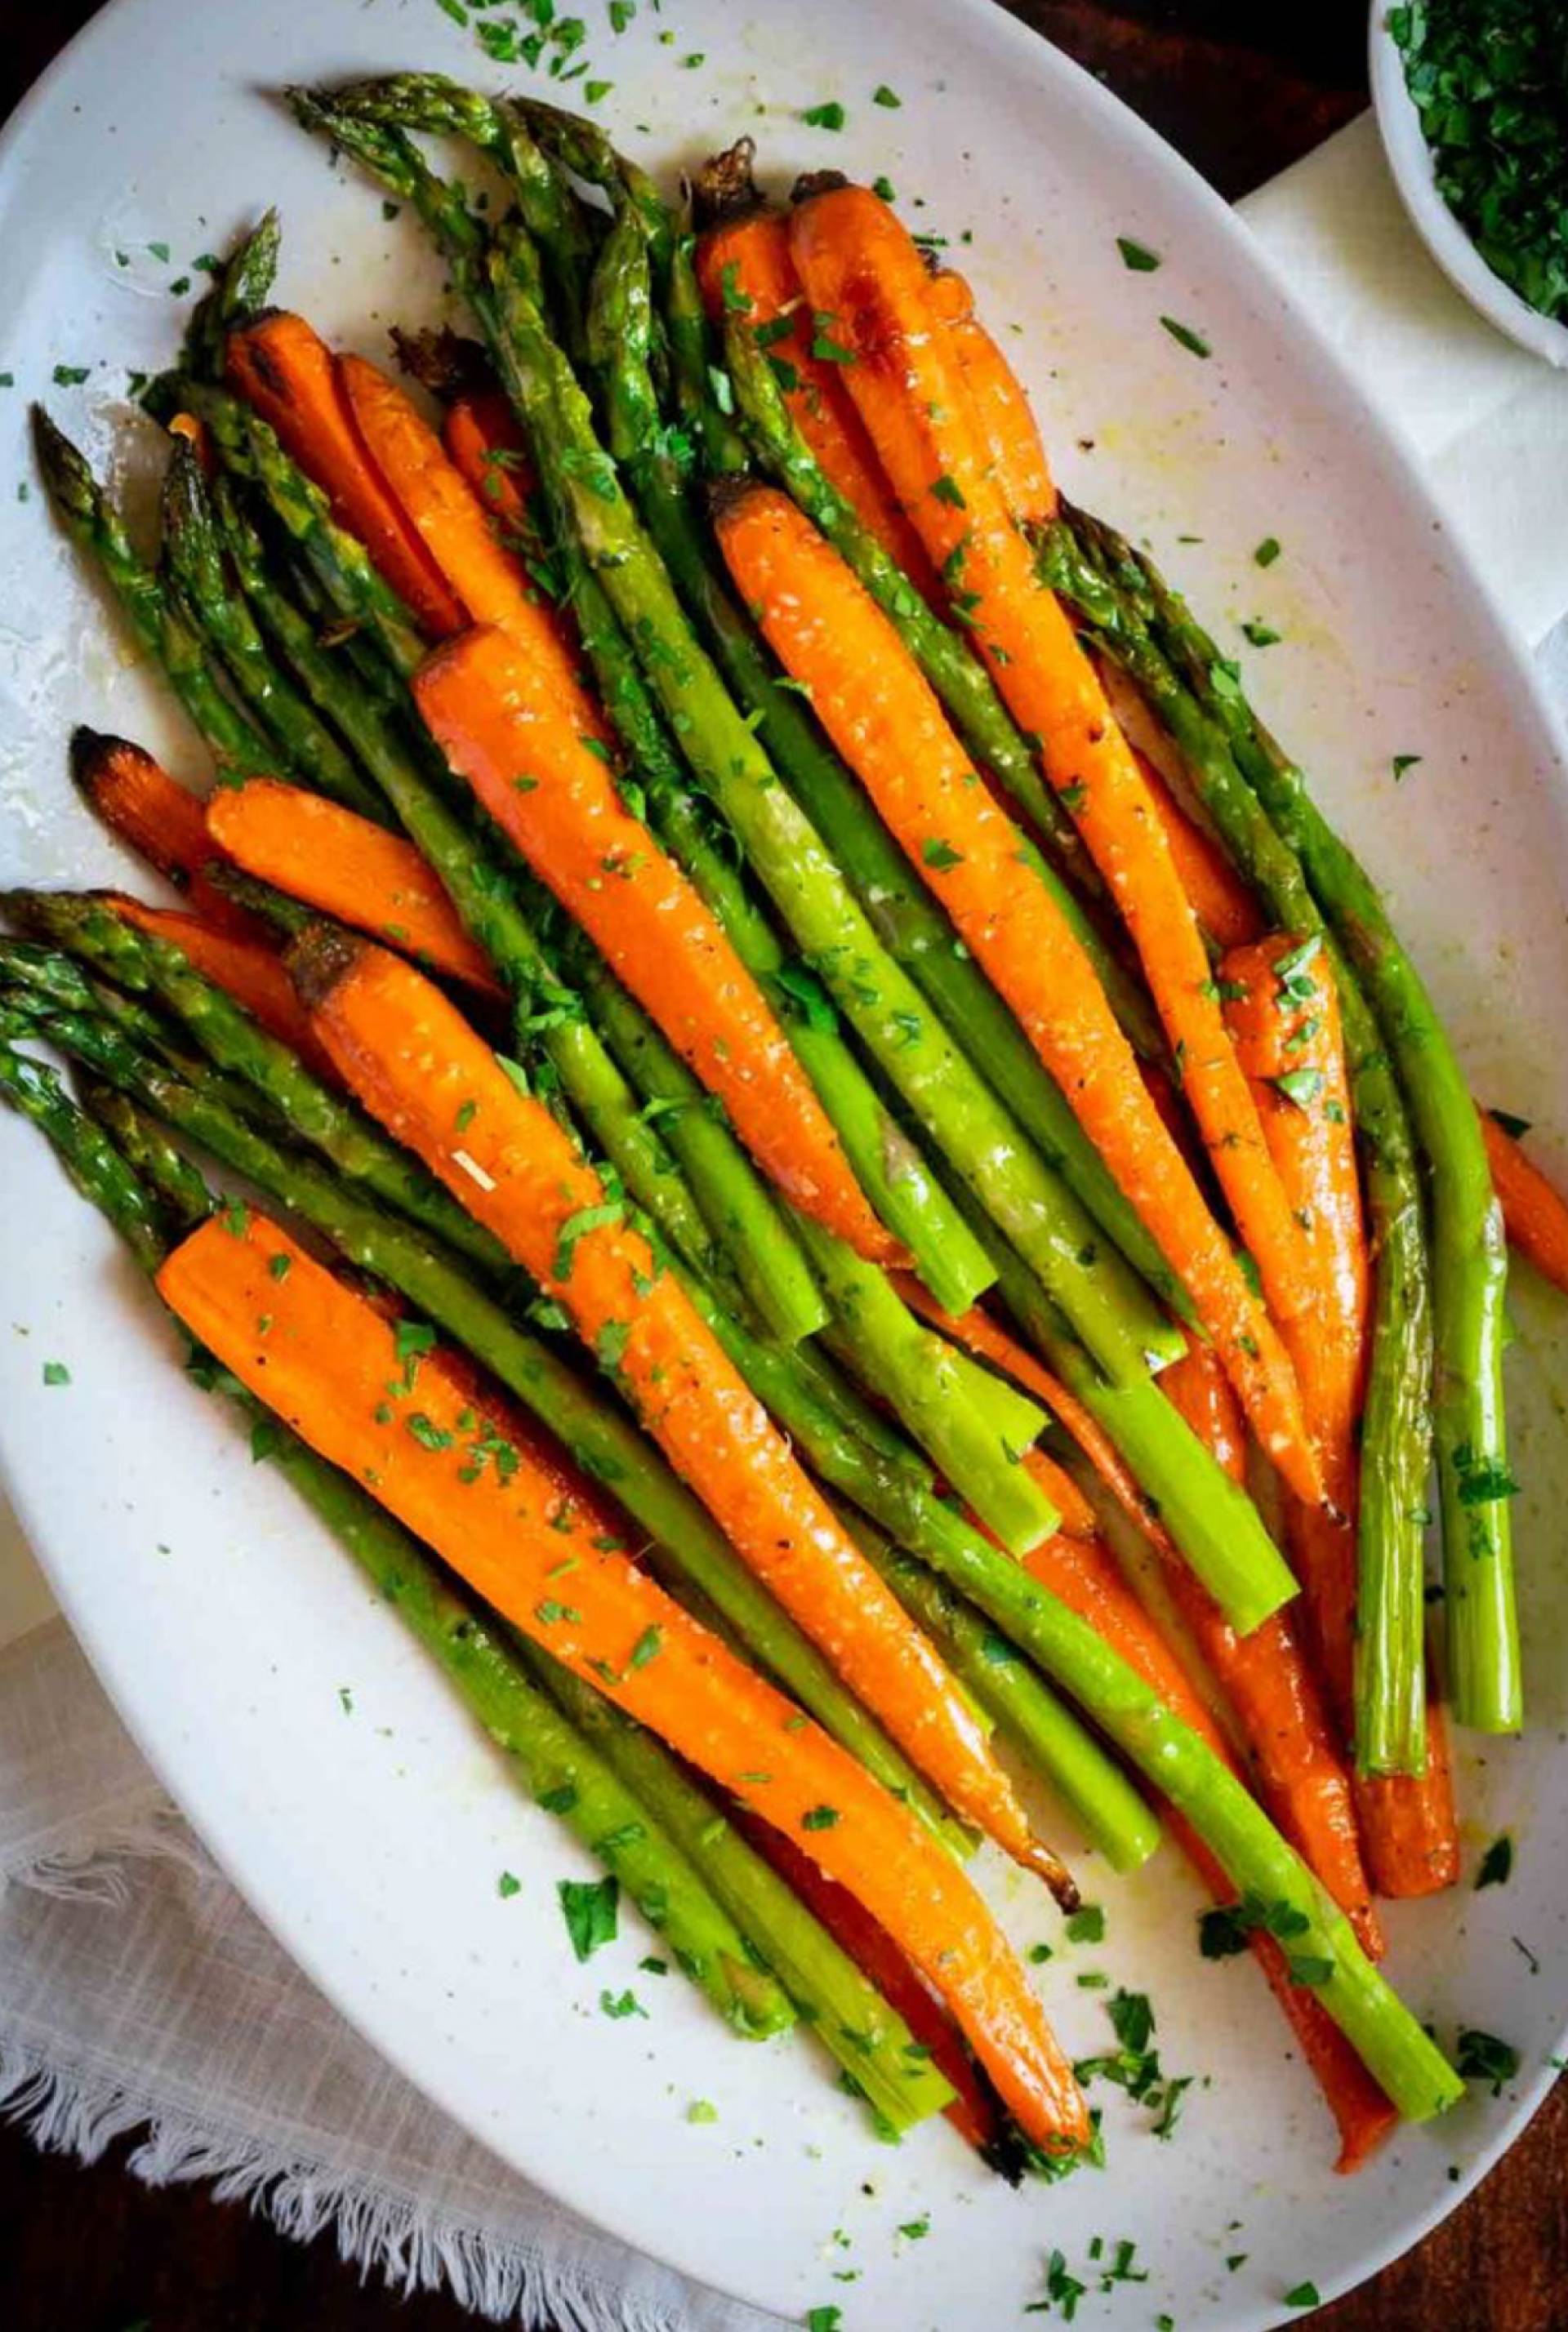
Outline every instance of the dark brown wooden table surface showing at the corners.
<svg viewBox="0 0 1568 2332">
<path fill-rule="evenodd" d="M 1010 5 L 1232 198 L 1365 105 L 1363 0 Z M 84 0 L 47 9 L 0 0 L 0 114 L 91 12 Z M 170 7 L 170 37 L 177 21 Z M 289 2243 L 201 2187 L 149 2192 L 119 2166 L 121 2152 L 84 2169 L 0 2124 L 5 2332 L 474 2332 L 476 2318 L 446 2297 L 394 2299 L 378 2283 L 362 2285 L 329 2236 Z M 1447 2227 L 1311 2323 L 1323 2332 L 1566 2332 L 1568 2085 Z"/>
</svg>

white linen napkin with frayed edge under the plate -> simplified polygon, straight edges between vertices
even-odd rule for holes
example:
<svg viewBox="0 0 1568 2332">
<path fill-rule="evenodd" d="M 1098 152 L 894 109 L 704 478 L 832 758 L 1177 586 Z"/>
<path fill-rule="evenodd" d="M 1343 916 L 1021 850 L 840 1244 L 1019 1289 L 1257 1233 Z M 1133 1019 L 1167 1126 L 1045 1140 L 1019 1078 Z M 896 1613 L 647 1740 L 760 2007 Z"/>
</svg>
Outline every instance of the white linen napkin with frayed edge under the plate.
<svg viewBox="0 0 1568 2332">
<path fill-rule="evenodd" d="M 1568 375 L 1498 338 L 1405 219 L 1372 117 L 1241 203 L 1426 462 L 1568 709 Z M 1556 632 L 1554 632 L 1556 627 Z M 0 1497 L 0 2110 L 210 2178 L 397 2288 L 565 2332 L 777 2332 L 551 2204 L 408 2087 L 212 1868 Z"/>
</svg>

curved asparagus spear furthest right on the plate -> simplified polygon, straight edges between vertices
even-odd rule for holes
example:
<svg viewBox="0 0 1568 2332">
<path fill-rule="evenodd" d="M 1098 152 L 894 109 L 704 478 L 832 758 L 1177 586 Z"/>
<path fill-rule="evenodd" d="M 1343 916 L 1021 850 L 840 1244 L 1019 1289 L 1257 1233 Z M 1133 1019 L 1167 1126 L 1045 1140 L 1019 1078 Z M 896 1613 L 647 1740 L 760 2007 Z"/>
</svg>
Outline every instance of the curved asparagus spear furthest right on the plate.
<svg viewBox="0 0 1568 2332">
<path fill-rule="evenodd" d="M 1139 576 L 1157 644 L 1225 730 L 1246 784 L 1297 854 L 1393 1054 L 1430 1187 L 1433 1425 L 1454 1714 L 1482 1733 L 1514 1733 L 1524 1723 L 1524 1679 L 1507 1511 L 1519 1485 L 1507 1471 L 1503 1423 L 1507 1241 L 1470 1089 L 1377 884 L 1316 807 L 1302 770 L 1258 721 L 1185 602 L 1148 557 L 1118 548 L 1125 553 L 1118 578 L 1125 569 L 1132 590 Z"/>
</svg>

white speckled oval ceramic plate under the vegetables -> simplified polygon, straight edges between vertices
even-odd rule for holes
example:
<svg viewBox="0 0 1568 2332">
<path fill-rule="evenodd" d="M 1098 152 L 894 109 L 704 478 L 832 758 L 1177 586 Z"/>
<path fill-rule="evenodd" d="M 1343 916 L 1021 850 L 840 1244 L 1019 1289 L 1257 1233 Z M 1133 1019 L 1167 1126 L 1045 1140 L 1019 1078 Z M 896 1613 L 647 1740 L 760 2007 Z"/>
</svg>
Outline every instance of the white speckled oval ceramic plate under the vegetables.
<svg viewBox="0 0 1568 2332">
<path fill-rule="evenodd" d="M 1531 672 L 1433 504 L 1230 212 L 1104 89 L 980 0 L 644 5 L 614 35 L 590 0 L 604 121 L 674 168 L 754 131 L 768 177 L 887 173 L 915 224 L 961 245 L 1038 392 L 1078 499 L 1148 534 L 1234 639 L 1276 725 L 1388 881 L 1477 1089 L 1568 1164 L 1568 802 Z M 499 12 L 495 12 L 499 14 Z M 488 19 L 492 21 L 492 19 Z M 159 693 L 26 499 L 26 401 L 96 452 L 121 443 L 126 368 L 168 357 L 198 254 L 266 203 L 282 296 L 380 354 L 439 301 L 413 222 L 299 135 L 280 79 L 439 65 L 495 79 L 434 0 L 114 0 L 0 161 L 0 865 L 124 874 L 65 779 L 75 721 L 198 767 Z M 901 105 L 873 103 L 889 84 Z M 579 84 L 581 86 L 581 84 Z M 838 133 L 803 117 L 845 107 Z M 1129 273 L 1118 236 L 1160 254 Z M 1181 345 L 1171 317 L 1211 350 Z M 54 368 L 63 385 L 54 385 Z M 84 378 L 77 382 L 77 371 Z M 16 497 L 23 499 L 16 499 Z M 1276 536 L 1265 571 L 1253 546 Z M 1239 625 L 1281 637 L 1255 653 Z M 1393 779 L 1393 756 L 1421 756 Z M 1106 1973 L 1153 1996 L 1169 2073 L 1195 2075 L 1169 2143 L 1106 2092 L 1108 2166 L 1010 2192 L 945 2124 L 875 2145 L 807 2043 L 742 2047 L 679 1982 L 637 1978 L 632 1926 L 579 1968 L 555 1908 L 569 1842 L 518 1803 L 397 1621 L 222 1409 L 42 1143 L 0 1124 L 0 1448 L 51 1583 L 126 1721 L 250 1901 L 362 2031 L 497 2155 L 630 2243 L 845 2332 L 959 2332 L 1043 2297 L 1059 2248 L 1080 2323 L 1241 2332 L 1311 2281 L 1330 2297 L 1449 2211 L 1524 2124 L 1563 2027 L 1568 1754 L 1561 1320 L 1517 1290 L 1510 1355 L 1531 1735 L 1461 1749 L 1468 1859 L 1500 1828 L 1514 1880 L 1391 1917 L 1391 1971 L 1444 2036 L 1519 2050 L 1517 2085 L 1402 2136 L 1351 2183 L 1251 1964 L 1206 1964 L 1169 1854 L 1134 1884 L 1083 1856 L 1104 1945 L 985 1859 L 1069 2045 L 1106 2043 Z M 47 1390 L 42 1364 L 72 1381 Z M 341 1688 L 348 1686 L 352 1714 Z M 1066 1835 L 1066 1833 L 1064 1833 Z M 1071 1835 L 1069 1835 L 1071 1842 Z M 523 1891 L 497 1896 L 497 1873 Z M 637 1982 L 646 2020 L 609 2022 Z M 719 2117 L 691 2124 L 691 2099 Z M 919 2241 L 901 2225 L 929 2215 Z M 1136 2243 L 1148 2283 L 1101 2292 Z M 1234 2262 L 1234 2264 L 1232 2264 Z"/>
</svg>

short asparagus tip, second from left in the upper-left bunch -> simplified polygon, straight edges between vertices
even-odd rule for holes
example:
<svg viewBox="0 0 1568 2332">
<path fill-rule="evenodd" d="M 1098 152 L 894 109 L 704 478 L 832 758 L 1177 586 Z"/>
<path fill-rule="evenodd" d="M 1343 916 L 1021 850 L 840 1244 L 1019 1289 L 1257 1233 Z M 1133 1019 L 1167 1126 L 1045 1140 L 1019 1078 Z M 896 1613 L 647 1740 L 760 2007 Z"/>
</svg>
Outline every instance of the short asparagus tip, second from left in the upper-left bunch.
<svg viewBox="0 0 1568 2332">
<path fill-rule="evenodd" d="M 289 772 L 334 802 L 385 826 L 380 800 L 331 730 L 278 672 L 245 599 L 231 588 L 201 455 L 187 436 L 170 438 L 163 478 L 163 557 L 170 588 L 191 625 L 224 660 L 254 718 L 273 735 Z"/>
</svg>

